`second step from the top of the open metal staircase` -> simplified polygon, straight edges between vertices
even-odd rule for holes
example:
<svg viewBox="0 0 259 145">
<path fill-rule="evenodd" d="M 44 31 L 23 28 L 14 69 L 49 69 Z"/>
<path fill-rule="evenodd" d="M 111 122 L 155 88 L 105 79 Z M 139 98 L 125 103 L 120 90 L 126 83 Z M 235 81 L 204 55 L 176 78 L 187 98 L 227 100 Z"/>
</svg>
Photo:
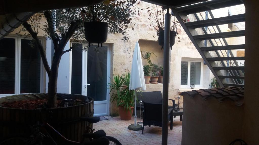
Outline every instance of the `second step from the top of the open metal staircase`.
<svg viewBox="0 0 259 145">
<path fill-rule="evenodd" d="M 188 22 L 185 23 L 186 27 L 201 28 L 208 26 L 224 25 L 229 23 L 238 23 L 245 21 L 245 14 L 231 15 L 227 17 L 220 17 L 215 19 L 208 19 L 202 21 Z"/>
</svg>

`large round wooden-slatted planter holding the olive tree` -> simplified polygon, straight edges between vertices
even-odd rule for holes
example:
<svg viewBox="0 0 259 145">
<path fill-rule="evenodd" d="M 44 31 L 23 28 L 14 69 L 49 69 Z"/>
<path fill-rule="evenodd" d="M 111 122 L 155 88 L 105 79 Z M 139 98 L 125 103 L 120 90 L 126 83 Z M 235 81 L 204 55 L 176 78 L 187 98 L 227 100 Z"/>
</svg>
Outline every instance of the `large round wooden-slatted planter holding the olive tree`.
<svg viewBox="0 0 259 145">
<path fill-rule="evenodd" d="M 0 104 L 6 101 L 46 99 L 47 94 L 23 94 L 0 98 Z M 30 133 L 30 125 L 35 125 L 37 121 L 48 118 L 49 111 L 52 117 L 48 123 L 69 140 L 80 141 L 88 125 L 88 122 L 81 121 L 80 117 L 93 116 L 93 99 L 76 94 L 57 94 L 58 99 L 80 99 L 87 100 L 87 103 L 71 107 L 52 109 L 15 109 L 0 106 L 0 139 L 15 134 Z M 57 144 L 65 144 L 56 136 L 51 134 Z"/>
</svg>

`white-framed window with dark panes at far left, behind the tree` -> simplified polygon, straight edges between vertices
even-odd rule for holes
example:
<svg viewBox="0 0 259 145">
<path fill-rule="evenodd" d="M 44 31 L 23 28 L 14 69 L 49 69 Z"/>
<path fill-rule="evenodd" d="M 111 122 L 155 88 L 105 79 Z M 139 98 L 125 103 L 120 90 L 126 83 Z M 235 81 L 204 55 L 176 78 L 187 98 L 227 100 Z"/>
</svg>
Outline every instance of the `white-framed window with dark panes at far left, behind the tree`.
<svg viewBox="0 0 259 145">
<path fill-rule="evenodd" d="M 40 93 L 42 65 L 35 43 L 6 37 L 0 40 L 0 52 L 0 96 Z"/>
</svg>

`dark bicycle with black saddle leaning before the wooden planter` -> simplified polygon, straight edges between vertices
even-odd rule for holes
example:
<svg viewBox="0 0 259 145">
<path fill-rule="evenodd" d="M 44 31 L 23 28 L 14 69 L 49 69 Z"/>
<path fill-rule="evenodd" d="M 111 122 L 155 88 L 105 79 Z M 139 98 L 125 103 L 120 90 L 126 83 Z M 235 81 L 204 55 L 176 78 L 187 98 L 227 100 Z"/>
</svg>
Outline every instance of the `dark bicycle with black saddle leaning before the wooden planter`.
<svg viewBox="0 0 259 145">
<path fill-rule="evenodd" d="M 58 136 L 62 138 L 64 142 L 67 144 L 75 144 L 75 145 L 121 145 L 121 143 L 111 137 L 106 136 L 106 133 L 103 130 L 98 130 L 96 132 L 95 129 L 90 127 L 91 123 L 97 123 L 100 120 L 100 117 L 91 117 L 91 118 L 80 118 L 82 121 L 87 121 L 90 124 L 87 126 L 85 133 L 83 134 L 82 140 L 80 142 L 68 140 L 58 131 L 56 131 L 50 124 L 44 122 L 43 124 L 34 125 L 32 127 L 32 134 L 30 136 L 18 135 L 10 138 L 6 138 L 3 141 L 0 141 L 0 145 L 45 145 L 45 144 L 54 144 L 58 145 L 55 140 L 51 137 L 47 129 L 55 132 Z M 42 132 L 43 131 L 43 132 Z"/>
</svg>

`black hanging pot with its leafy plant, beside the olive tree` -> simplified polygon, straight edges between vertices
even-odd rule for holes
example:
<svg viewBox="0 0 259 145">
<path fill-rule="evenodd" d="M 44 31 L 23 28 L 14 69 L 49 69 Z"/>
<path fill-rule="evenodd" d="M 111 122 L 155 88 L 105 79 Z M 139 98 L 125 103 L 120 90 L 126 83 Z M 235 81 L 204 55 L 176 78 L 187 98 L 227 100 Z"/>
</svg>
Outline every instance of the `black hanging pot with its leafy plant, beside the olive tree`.
<svg viewBox="0 0 259 145">
<path fill-rule="evenodd" d="M 107 33 L 119 33 L 123 35 L 123 41 L 129 38 L 125 32 L 131 22 L 134 12 L 132 7 L 135 0 L 130 1 L 111 1 L 106 0 L 103 3 L 82 8 L 81 16 L 84 20 L 85 38 L 91 43 L 99 43 L 101 47 L 107 40 Z M 132 28 L 134 29 L 134 28 Z"/>
</svg>

